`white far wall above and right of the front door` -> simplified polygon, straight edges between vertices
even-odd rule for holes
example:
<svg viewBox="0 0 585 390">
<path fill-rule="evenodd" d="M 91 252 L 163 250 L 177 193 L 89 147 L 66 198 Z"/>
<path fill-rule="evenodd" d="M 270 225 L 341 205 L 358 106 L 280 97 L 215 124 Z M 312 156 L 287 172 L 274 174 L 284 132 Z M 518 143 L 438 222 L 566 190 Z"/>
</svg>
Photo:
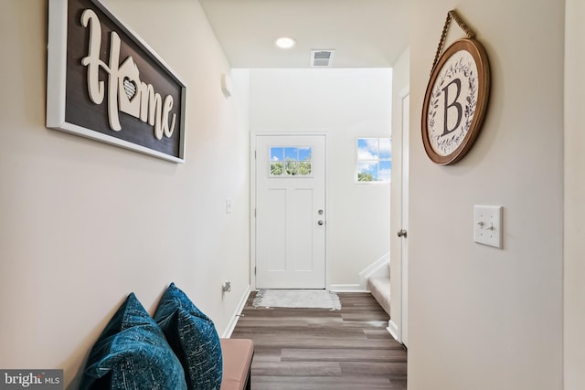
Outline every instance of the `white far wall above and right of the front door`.
<svg viewBox="0 0 585 390">
<path fill-rule="evenodd" d="M 357 137 L 388 137 L 390 69 L 251 69 L 250 131 L 326 131 L 330 285 L 389 250 L 389 186 L 356 184 Z M 335 287 L 335 286 L 334 286 Z"/>
</svg>

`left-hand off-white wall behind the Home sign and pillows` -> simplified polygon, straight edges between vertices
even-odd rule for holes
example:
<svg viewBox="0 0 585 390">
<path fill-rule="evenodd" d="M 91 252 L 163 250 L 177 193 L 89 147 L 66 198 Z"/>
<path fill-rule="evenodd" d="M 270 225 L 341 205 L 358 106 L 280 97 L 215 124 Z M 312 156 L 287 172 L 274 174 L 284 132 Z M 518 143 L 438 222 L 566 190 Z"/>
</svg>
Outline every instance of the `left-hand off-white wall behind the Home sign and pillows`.
<svg viewBox="0 0 585 390">
<path fill-rule="evenodd" d="M 191 0 L 103 1 L 185 81 L 185 164 L 46 129 L 47 3 L 0 13 L 0 367 L 64 368 L 75 387 L 131 291 L 152 313 L 175 281 L 224 332 L 249 286 L 249 132 Z"/>
</svg>

